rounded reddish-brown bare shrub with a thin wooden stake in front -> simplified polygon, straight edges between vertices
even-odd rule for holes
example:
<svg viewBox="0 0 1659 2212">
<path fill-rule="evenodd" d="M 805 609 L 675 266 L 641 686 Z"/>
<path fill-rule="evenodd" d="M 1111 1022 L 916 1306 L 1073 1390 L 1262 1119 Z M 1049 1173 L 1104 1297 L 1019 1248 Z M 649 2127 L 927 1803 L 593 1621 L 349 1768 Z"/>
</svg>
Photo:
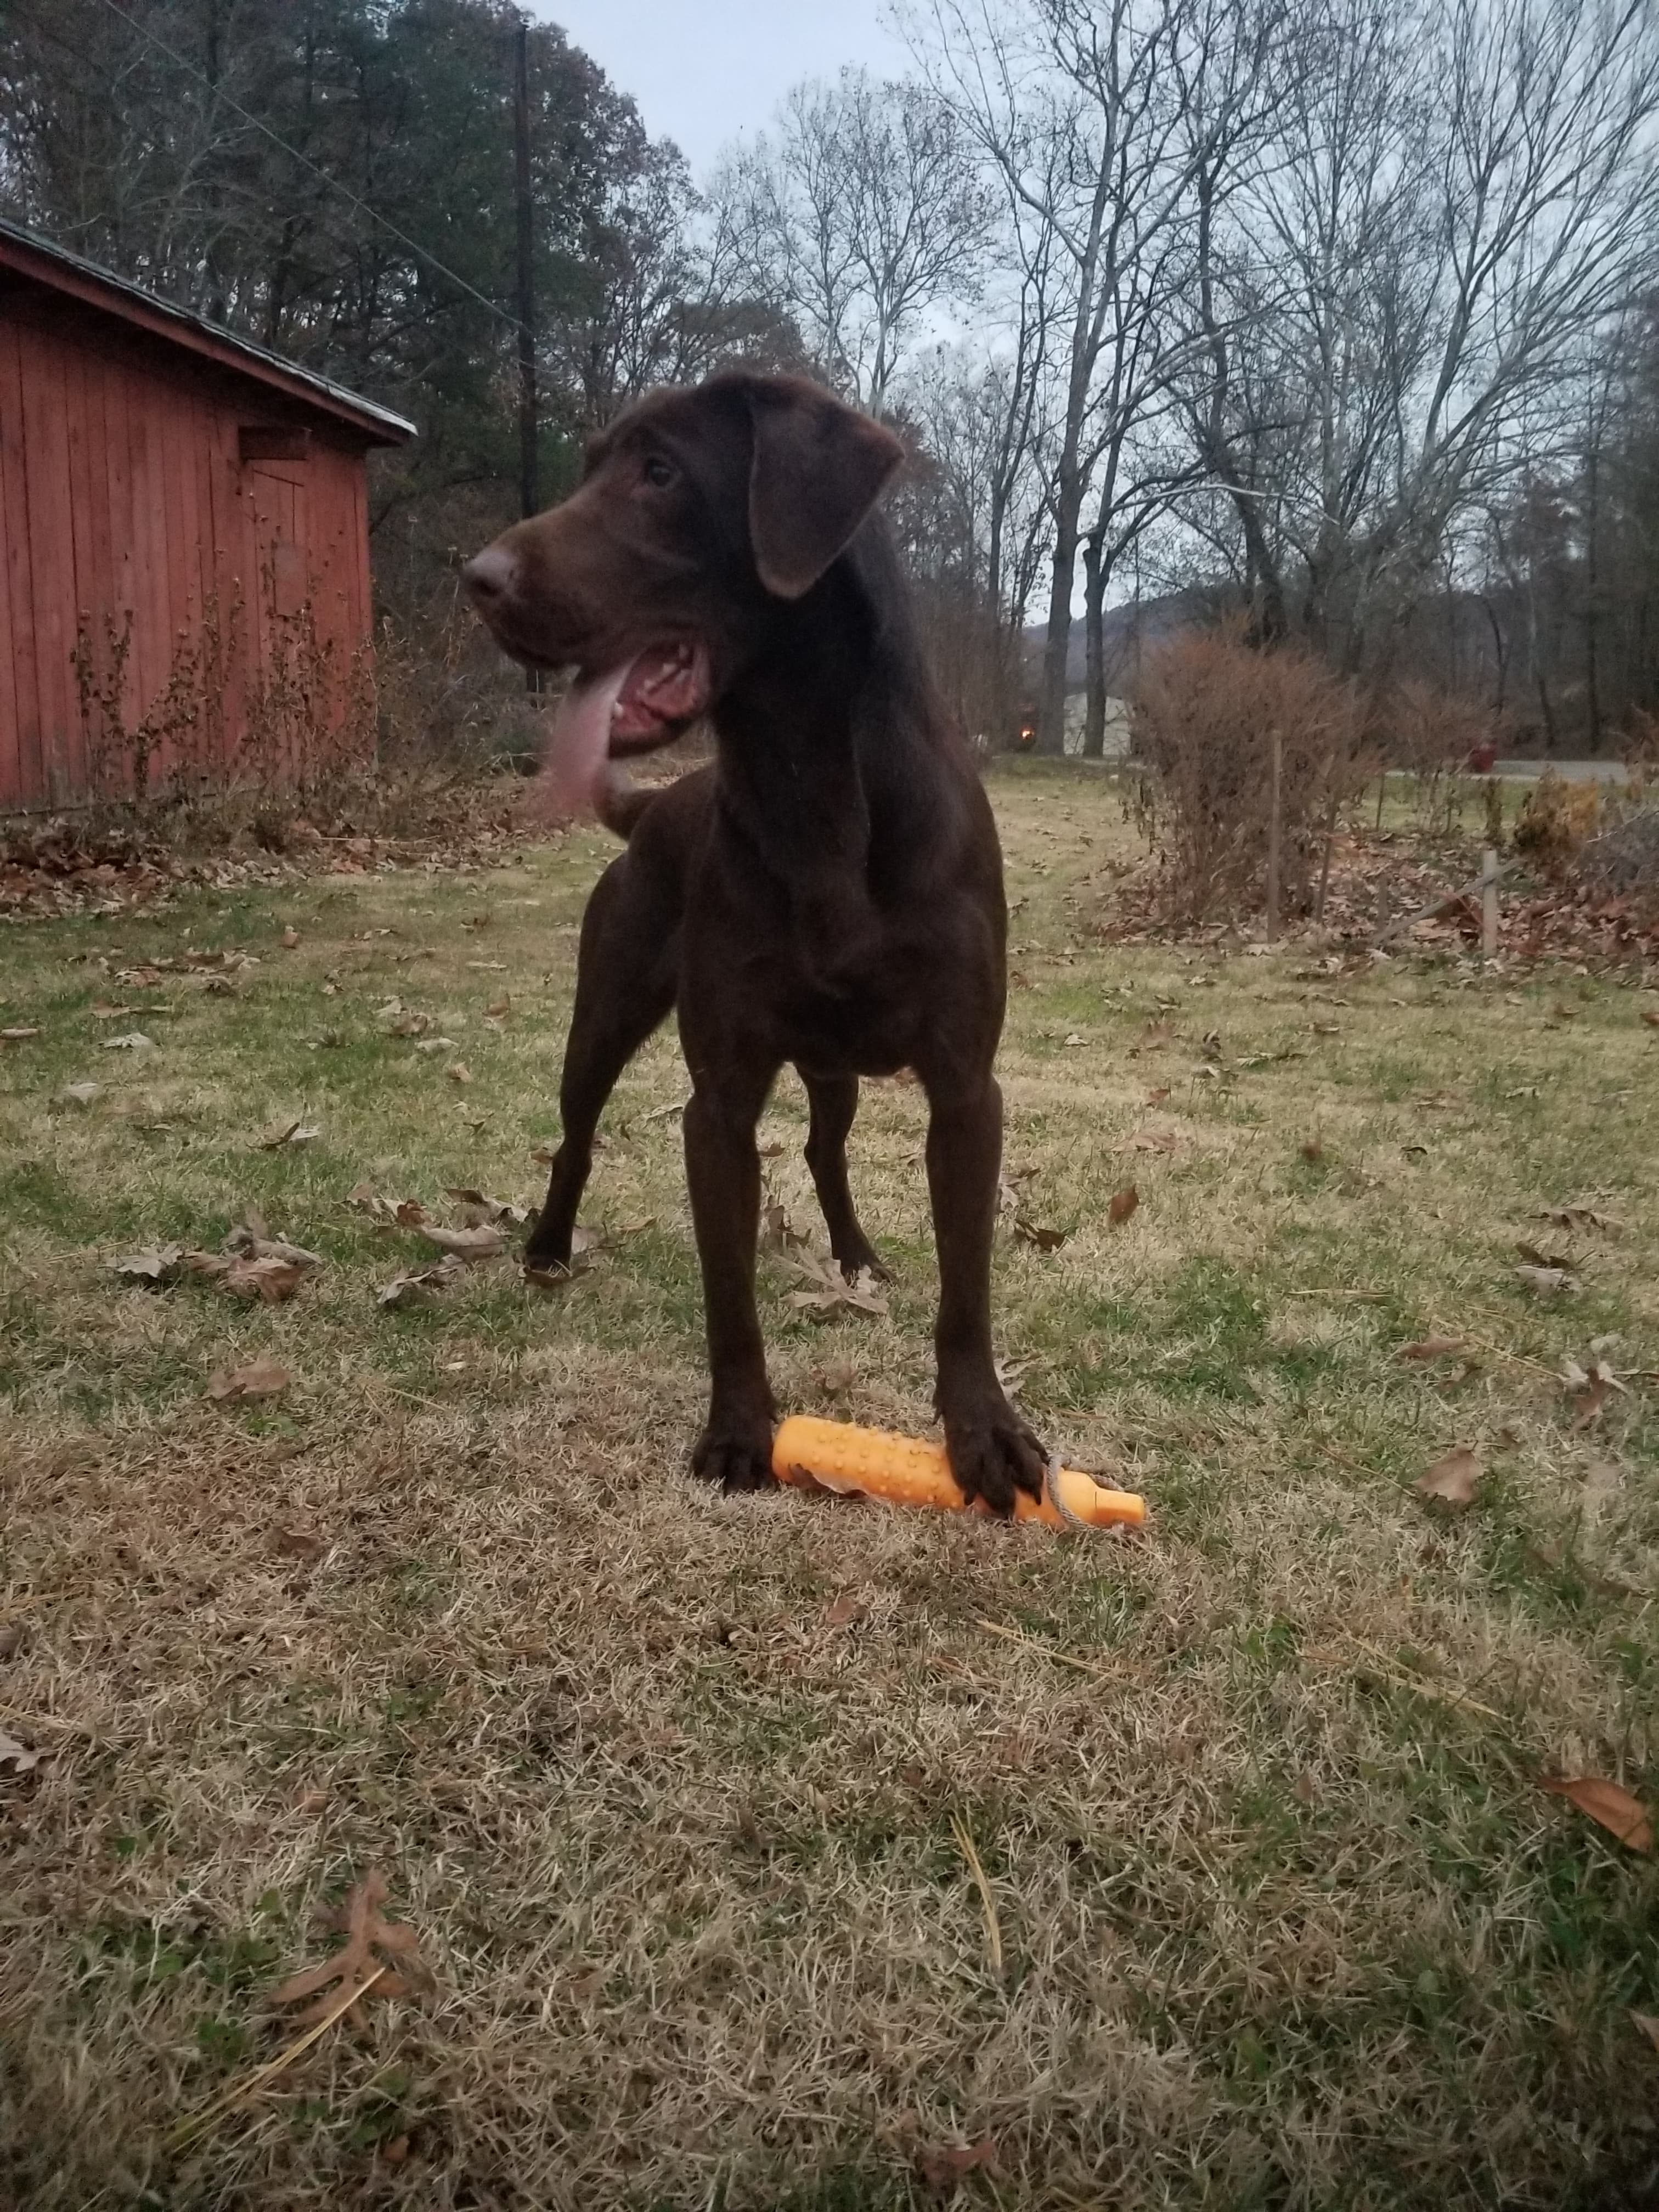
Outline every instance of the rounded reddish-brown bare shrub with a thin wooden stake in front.
<svg viewBox="0 0 1659 2212">
<path fill-rule="evenodd" d="M 1312 905 L 1318 854 L 1369 757 L 1358 692 L 1310 655 L 1186 633 L 1146 657 L 1130 708 L 1146 774 L 1137 816 L 1172 920 L 1237 916 L 1265 896 L 1272 750 L 1281 741 L 1285 911 Z"/>
</svg>

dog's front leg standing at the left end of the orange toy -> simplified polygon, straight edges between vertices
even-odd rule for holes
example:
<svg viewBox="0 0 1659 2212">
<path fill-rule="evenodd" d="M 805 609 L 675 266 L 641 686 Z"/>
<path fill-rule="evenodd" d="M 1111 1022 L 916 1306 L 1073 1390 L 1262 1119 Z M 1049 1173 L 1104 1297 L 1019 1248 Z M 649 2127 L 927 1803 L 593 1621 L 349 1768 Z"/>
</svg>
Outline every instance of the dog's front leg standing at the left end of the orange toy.
<svg viewBox="0 0 1659 2212">
<path fill-rule="evenodd" d="M 754 1126 L 776 1068 L 697 1082 L 686 1106 L 686 1186 L 703 1267 L 708 1327 L 708 1425 L 692 1469 L 726 1491 L 772 1482 L 772 1385 L 754 1312 L 754 1245 L 761 1228 L 761 1155 Z"/>
</svg>

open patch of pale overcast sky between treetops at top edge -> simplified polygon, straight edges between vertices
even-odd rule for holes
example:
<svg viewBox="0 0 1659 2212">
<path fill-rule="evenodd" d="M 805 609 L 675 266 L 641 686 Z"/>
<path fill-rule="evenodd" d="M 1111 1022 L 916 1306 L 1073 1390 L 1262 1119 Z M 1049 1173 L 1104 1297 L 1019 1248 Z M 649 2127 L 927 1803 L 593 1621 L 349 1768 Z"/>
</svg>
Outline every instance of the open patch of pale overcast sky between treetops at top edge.
<svg viewBox="0 0 1659 2212">
<path fill-rule="evenodd" d="M 633 93 L 653 137 L 701 177 L 739 131 L 770 122 L 799 77 L 843 62 L 898 75 L 907 53 L 885 0 L 531 0 Z"/>
</svg>

